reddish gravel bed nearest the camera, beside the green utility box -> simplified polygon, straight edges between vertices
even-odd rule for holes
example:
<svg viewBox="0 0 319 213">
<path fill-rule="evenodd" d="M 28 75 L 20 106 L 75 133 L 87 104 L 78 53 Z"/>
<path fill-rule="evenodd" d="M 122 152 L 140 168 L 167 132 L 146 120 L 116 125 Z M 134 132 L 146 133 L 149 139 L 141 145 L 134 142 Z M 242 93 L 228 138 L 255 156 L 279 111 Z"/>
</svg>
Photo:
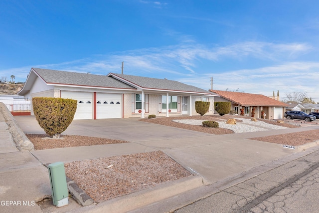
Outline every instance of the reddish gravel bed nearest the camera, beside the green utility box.
<svg viewBox="0 0 319 213">
<path fill-rule="evenodd" d="M 161 151 L 74 161 L 65 172 L 96 203 L 191 175 Z"/>
</svg>

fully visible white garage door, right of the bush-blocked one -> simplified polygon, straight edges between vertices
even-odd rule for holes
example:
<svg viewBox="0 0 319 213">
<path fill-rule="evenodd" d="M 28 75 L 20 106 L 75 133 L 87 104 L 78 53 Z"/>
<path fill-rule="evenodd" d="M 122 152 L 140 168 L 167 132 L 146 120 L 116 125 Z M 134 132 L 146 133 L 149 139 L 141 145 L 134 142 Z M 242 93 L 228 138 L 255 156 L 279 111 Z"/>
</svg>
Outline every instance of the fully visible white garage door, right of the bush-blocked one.
<svg viewBox="0 0 319 213">
<path fill-rule="evenodd" d="M 121 118 L 121 94 L 96 93 L 96 119 Z"/>
</svg>

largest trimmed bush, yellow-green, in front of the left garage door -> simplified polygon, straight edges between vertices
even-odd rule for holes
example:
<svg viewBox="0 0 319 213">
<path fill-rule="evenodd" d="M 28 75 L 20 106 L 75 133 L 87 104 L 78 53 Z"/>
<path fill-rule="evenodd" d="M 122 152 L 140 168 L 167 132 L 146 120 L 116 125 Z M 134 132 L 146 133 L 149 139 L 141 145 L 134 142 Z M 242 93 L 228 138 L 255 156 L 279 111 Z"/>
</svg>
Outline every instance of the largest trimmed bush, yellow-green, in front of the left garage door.
<svg viewBox="0 0 319 213">
<path fill-rule="evenodd" d="M 74 118 L 77 101 L 66 98 L 32 98 L 35 118 L 45 133 L 53 138 L 68 128 Z"/>
</svg>

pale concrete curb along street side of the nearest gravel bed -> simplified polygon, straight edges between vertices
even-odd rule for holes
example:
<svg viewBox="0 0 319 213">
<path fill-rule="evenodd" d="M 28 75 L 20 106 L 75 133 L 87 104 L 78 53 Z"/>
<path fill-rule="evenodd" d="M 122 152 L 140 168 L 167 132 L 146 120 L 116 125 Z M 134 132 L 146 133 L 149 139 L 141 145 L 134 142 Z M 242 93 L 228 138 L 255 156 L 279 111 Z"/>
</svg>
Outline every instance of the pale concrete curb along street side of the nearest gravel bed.
<svg viewBox="0 0 319 213">
<path fill-rule="evenodd" d="M 204 186 L 200 176 L 189 176 L 159 186 L 117 197 L 97 205 L 91 205 L 71 212 L 76 213 L 123 213 L 133 211 L 161 200 L 177 196 L 189 190 Z"/>
</svg>

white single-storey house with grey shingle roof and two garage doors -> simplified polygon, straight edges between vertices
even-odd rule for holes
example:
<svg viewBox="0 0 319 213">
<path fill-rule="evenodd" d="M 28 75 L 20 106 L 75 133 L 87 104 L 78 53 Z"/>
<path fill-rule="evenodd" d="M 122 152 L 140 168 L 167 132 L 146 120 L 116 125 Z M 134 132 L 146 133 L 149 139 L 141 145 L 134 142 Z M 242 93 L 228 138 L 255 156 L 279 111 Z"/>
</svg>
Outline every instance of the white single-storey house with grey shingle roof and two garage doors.
<svg viewBox="0 0 319 213">
<path fill-rule="evenodd" d="M 106 119 L 199 115 L 195 101 L 209 101 L 207 115 L 213 114 L 212 92 L 167 79 L 109 73 L 94 75 L 31 68 L 24 97 L 61 97 L 78 101 L 74 119 Z M 33 115 L 31 107 L 31 115 Z"/>
</svg>

